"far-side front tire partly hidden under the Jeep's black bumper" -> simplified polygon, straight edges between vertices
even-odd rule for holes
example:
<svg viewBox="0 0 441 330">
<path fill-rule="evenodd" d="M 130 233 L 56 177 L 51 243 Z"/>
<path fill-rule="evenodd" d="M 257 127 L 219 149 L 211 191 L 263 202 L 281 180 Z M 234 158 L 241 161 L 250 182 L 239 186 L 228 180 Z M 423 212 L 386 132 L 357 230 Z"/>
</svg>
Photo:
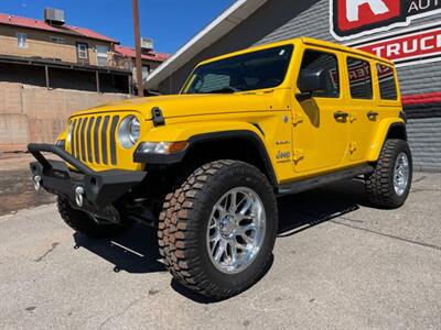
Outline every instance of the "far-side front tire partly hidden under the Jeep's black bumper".
<svg viewBox="0 0 441 330">
<path fill-rule="evenodd" d="M 127 229 L 127 227 L 118 224 L 98 224 L 86 212 L 74 209 L 71 202 L 65 198 L 58 197 L 57 206 L 60 216 L 64 222 L 73 230 L 89 238 L 110 238 Z"/>
</svg>

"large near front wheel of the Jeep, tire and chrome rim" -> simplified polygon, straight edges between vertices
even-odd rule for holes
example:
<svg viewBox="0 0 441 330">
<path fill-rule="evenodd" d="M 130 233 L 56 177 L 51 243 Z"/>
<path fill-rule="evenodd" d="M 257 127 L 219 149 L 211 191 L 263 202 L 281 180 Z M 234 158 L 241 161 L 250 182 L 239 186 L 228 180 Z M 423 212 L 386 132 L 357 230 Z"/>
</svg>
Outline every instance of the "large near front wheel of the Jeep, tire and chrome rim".
<svg viewBox="0 0 441 330">
<path fill-rule="evenodd" d="M 277 233 L 273 189 L 256 167 L 216 161 L 165 197 L 159 245 L 173 277 L 225 299 L 266 272 Z"/>
</svg>

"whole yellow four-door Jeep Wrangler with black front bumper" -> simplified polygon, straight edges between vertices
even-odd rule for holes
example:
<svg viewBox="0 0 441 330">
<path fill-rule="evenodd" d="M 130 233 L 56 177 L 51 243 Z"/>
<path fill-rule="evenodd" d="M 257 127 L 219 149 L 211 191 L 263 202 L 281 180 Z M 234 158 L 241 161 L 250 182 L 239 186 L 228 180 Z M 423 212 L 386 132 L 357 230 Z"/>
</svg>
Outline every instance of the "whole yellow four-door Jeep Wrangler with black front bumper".
<svg viewBox="0 0 441 330">
<path fill-rule="evenodd" d="M 392 63 L 302 37 L 205 61 L 180 95 L 74 113 L 55 145 L 29 151 L 35 188 L 74 230 L 151 224 L 174 278 L 223 299 L 263 275 L 278 196 L 364 176 L 373 206 L 400 207 L 405 122 Z"/>
</svg>

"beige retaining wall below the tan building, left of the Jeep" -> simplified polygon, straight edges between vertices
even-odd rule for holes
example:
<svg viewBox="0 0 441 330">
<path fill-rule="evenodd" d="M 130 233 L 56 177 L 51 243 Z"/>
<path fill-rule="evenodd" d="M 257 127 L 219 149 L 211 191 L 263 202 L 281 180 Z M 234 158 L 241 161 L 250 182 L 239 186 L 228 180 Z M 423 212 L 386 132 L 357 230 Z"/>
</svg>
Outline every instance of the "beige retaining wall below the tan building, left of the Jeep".
<svg viewBox="0 0 441 330">
<path fill-rule="evenodd" d="M 54 143 L 72 112 L 128 97 L 0 82 L 0 152 L 24 151 L 30 142 Z"/>
</svg>

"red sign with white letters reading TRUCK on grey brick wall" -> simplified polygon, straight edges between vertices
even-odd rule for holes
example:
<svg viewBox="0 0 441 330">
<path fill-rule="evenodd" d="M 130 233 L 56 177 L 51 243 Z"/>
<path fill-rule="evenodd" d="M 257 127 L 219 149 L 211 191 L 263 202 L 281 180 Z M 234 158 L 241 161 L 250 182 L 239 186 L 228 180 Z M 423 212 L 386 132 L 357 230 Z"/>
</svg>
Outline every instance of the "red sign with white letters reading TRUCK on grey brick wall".
<svg viewBox="0 0 441 330">
<path fill-rule="evenodd" d="M 396 63 L 441 55 L 441 28 L 369 43 L 358 50 Z"/>
</svg>

